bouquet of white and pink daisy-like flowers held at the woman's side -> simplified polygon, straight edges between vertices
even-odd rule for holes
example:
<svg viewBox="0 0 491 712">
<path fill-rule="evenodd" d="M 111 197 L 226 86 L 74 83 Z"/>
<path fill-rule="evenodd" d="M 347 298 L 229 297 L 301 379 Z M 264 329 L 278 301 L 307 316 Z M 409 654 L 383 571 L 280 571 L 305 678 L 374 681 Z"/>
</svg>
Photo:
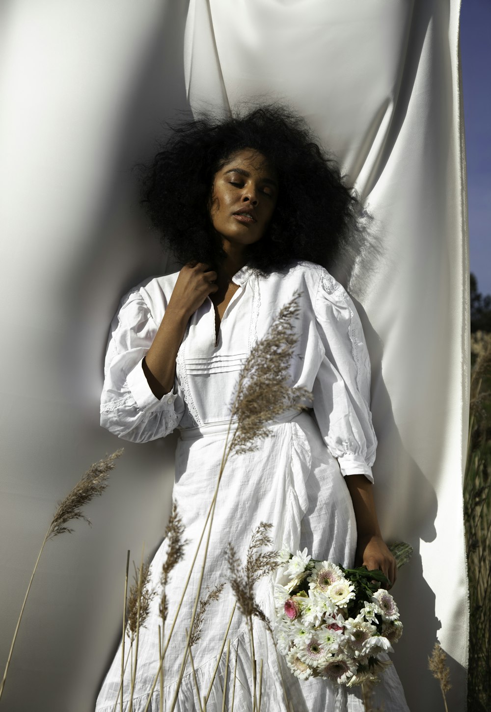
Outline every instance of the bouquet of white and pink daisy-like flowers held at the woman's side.
<svg viewBox="0 0 491 712">
<path fill-rule="evenodd" d="M 280 560 L 274 635 L 289 669 L 347 687 L 376 681 L 403 631 L 383 572 L 318 561 L 306 549 Z"/>
</svg>

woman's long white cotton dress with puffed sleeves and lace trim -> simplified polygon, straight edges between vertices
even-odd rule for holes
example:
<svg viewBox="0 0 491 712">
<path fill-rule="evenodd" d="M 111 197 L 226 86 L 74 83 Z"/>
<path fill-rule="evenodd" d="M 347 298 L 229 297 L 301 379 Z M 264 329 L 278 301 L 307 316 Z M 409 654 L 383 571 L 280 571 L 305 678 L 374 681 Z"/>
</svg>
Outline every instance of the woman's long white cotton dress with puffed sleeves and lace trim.
<svg viewBox="0 0 491 712">
<path fill-rule="evenodd" d="M 123 299 L 111 327 L 100 407 L 101 424 L 130 441 L 145 442 L 164 437 L 177 427 L 181 429 L 173 499 L 190 544 L 184 560 L 172 571 L 167 587 L 167 625 L 174 617 L 215 491 L 239 370 L 295 290 L 299 291 L 300 313 L 294 324 L 298 344 L 291 362 L 291 384 L 312 392 L 313 409 L 294 416 L 285 414 L 270 426 L 271 436 L 259 450 L 229 459 L 219 488 L 202 592 L 227 581 L 224 554 L 229 541 L 244 560 L 252 531 L 261 522 L 272 523 L 274 548 L 296 551 L 307 547 L 316 559 L 353 565 L 356 520 L 343 476 L 363 474 L 373 481 L 371 465 L 377 444 L 369 408 L 370 360 L 361 322 L 343 287 L 324 268 L 310 262 L 296 263 L 287 271 L 267 277 L 257 276 L 247 267 L 237 272 L 233 281 L 239 289 L 225 310 L 217 341 L 215 309 L 207 298 L 192 315 L 182 340 L 173 391 L 156 399 L 141 361 L 153 342 L 176 280 L 177 273 L 153 278 Z M 155 585 L 166 549 L 164 540 L 152 562 Z M 170 709 L 174 696 L 201 561 L 202 549 L 165 656 L 164 710 Z M 259 583 L 257 600 L 271 617 L 269 581 Z M 193 646 L 201 696 L 207 693 L 233 604 L 232 590 L 227 585 L 220 599 L 207 610 L 200 642 Z M 159 624 L 155 598 L 140 632 L 135 712 L 143 712 L 157 671 Z M 234 711 L 249 712 L 249 634 L 238 610 L 228 637 L 232 661 L 238 649 Z M 263 660 L 262 711 L 283 712 L 284 692 L 272 642 L 263 624 L 255 620 L 254 642 L 256 659 Z M 356 691 L 335 688 L 322 679 L 299 681 L 284 661 L 281 665 L 295 712 L 363 711 Z M 224 674 L 225 651 L 207 712 L 222 710 Z M 231 702 L 231 682 L 229 669 L 226 709 Z M 119 684 L 120 649 L 100 690 L 97 712 L 113 710 Z M 123 710 L 127 709 L 128 695 L 129 671 L 125 676 Z M 159 699 L 157 684 L 149 707 L 152 712 L 160 709 Z M 393 668 L 383 674 L 374 701 L 383 701 L 387 712 L 408 710 Z M 175 709 L 191 712 L 199 708 L 188 664 Z M 116 709 L 120 710 L 120 706 Z"/>
</svg>

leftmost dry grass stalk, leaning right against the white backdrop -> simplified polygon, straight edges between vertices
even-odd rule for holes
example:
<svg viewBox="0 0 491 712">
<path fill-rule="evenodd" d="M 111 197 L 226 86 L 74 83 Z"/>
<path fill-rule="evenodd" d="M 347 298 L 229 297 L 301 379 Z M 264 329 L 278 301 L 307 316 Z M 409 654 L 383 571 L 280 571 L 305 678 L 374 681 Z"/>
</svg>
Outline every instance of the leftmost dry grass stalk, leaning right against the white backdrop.
<svg viewBox="0 0 491 712">
<path fill-rule="evenodd" d="M 24 614 L 24 608 L 26 607 L 27 597 L 29 596 L 29 591 L 31 590 L 31 585 L 33 582 L 34 575 L 38 568 L 39 560 L 41 559 L 41 554 L 43 553 L 44 547 L 48 540 L 54 539 L 58 534 L 72 533 L 73 529 L 68 527 L 68 524 L 76 519 L 83 519 L 91 525 L 91 520 L 89 520 L 83 513 L 82 508 L 86 506 L 89 502 L 93 500 L 94 497 L 100 496 L 105 488 L 108 486 L 108 478 L 110 472 L 115 467 L 115 460 L 118 459 L 121 454 L 123 454 L 123 449 L 113 452 L 112 455 L 95 462 L 91 467 L 88 468 L 86 473 L 83 474 L 80 481 L 76 483 L 76 486 L 68 493 L 68 495 L 61 501 L 57 503 L 56 512 L 51 520 L 51 523 L 44 537 L 43 543 L 41 545 L 41 550 L 38 553 L 36 563 L 31 574 L 31 580 L 26 590 L 26 595 L 24 596 L 24 602 L 22 603 L 21 612 L 19 614 L 19 619 L 17 620 L 16 629 L 14 631 L 14 637 L 12 638 L 9 656 L 6 661 L 4 677 L 0 684 L 0 699 L 2 693 L 4 692 L 5 681 L 7 673 L 9 671 L 9 665 L 12 657 L 12 652 L 14 651 L 14 645 L 17 638 L 17 633 L 19 632 L 19 626 L 21 624 L 22 615 Z"/>
</svg>

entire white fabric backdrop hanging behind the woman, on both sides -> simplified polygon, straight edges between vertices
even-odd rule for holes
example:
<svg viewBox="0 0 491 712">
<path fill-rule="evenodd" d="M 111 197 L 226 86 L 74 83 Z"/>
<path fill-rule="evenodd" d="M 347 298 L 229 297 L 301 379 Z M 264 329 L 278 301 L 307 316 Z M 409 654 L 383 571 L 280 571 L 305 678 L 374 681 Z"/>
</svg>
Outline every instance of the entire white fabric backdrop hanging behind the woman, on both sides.
<svg viewBox="0 0 491 712">
<path fill-rule="evenodd" d="M 130 167 L 187 108 L 186 3 L 5 4 L 0 50 L 0 661 L 56 500 L 120 446 L 98 426 L 108 324 L 120 295 L 170 268 Z M 395 594 L 396 664 L 410 707 L 441 708 L 426 656 L 450 656 L 465 708 L 462 455 L 467 242 L 457 0 L 192 3 L 186 66 L 197 108 L 274 90 L 311 122 L 368 198 L 377 255 L 361 256 L 388 538 L 415 546 Z M 204 14 L 204 16 L 203 16 Z M 191 18 L 192 19 L 192 18 Z M 381 355 L 383 354 L 383 360 Z M 4 698 L 11 712 L 87 712 L 119 635 L 125 553 L 153 553 L 167 520 L 171 442 L 125 444 L 93 528 L 43 555 Z"/>
</svg>

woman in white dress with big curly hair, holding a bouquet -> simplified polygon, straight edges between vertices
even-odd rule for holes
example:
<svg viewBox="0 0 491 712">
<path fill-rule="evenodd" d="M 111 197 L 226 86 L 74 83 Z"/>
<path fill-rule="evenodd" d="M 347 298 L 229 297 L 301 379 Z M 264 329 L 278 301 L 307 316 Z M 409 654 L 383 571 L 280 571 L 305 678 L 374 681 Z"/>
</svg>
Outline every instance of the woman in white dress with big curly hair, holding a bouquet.
<svg viewBox="0 0 491 712">
<path fill-rule="evenodd" d="M 101 423 L 123 439 L 144 442 L 180 428 L 173 498 L 191 543 L 167 590 L 172 621 L 190 561 L 212 501 L 237 376 L 282 305 L 299 293 L 298 338 L 291 384 L 305 387 L 310 412 L 287 412 L 269 426 L 260 449 L 233 456 L 220 484 L 202 590 L 227 581 L 224 550 L 232 541 L 244 559 L 251 532 L 272 523 L 274 548 L 307 547 L 317 559 L 381 568 L 391 582 L 396 564 L 383 542 L 373 503 L 371 465 L 376 435 L 369 409 L 370 362 L 356 310 L 322 266 L 356 230 L 359 209 L 336 164 L 291 112 L 259 108 L 222 122 L 200 120 L 175 130 L 145 179 L 145 202 L 155 226 L 184 266 L 153 278 L 123 300 L 111 328 Z M 152 565 L 160 577 L 166 543 Z M 169 709 L 185 649 L 200 568 L 190 580 L 180 624 L 165 656 Z M 268 607 L 266 594 L 258 596 Z M 262 598 L 261 598 L 262 597 Z M 212 604 L 193 647 L 196 682 L 188 666 L 176 709 L 200 708 L 232 607 L 227 587 Z M 158 667 L 158 604 L 140 633 L 133 710 L 145 708 Z M 251 655 L 246 623 L 232 618 L 228 635 L 238 651 L 234 710 L 252 709 Z M 281 676 L 271 642 L 254 629 L 264 661 L 262 709 L 284 709 Z M 222 709 L 225 656 L 207 710 Z M 354 712 L 358 693 L 323 679 L 299 681 L 286 669 L 295 712 Z M 120 651 L 98 697 L 98 712 L 118 698 Z M 393 669 L 378 698 L 386 710 L 407 710 Z M 125 681 L 124 698 L 129 697 Z M 227 708 L 230 703 L 227 696 Z M 159 707 L 155 686 L 152 710 Z"/>
</svg>

